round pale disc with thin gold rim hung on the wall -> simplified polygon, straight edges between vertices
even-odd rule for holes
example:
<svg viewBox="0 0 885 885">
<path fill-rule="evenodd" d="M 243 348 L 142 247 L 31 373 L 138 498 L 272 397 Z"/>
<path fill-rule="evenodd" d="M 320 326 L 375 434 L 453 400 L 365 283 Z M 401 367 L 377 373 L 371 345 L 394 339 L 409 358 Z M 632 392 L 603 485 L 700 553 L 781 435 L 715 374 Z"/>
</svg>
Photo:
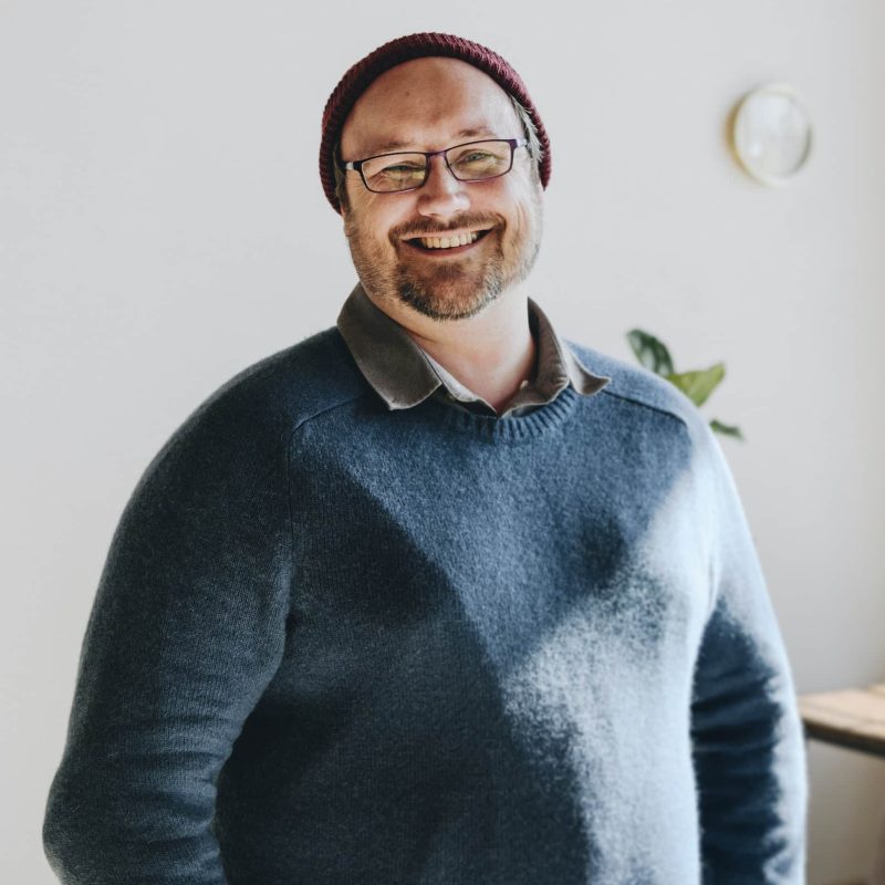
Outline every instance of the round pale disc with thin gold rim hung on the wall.
<svg viewBox="0 0 885 885">
<path fill-rule="evenodd" d="M 783 185 L 811 153 L 811 119 L 795 90 L 770 83 L 741 98 L 733 112 L 731 146 L 741 166 L 763 185 Z"/>
</svg>

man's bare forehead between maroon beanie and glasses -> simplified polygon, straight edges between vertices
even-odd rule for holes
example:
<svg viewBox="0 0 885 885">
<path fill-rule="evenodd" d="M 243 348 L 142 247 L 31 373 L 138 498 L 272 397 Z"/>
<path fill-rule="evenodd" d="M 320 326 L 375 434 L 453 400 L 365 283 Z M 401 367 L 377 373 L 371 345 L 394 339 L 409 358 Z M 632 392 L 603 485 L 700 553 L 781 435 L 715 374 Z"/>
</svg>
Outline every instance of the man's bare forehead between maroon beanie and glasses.
<svg viewBox="0 0 885 885">
<path fill-rule="evenodd" d="M 507 93 L 460 59 L 414 59 L 378 76 L 344 123 L 342 155 L 429 150 L 459 138 L 513 138 L 519 119 Z M 451 140 L 454 139 L 454 142 Z"/>
</svg>

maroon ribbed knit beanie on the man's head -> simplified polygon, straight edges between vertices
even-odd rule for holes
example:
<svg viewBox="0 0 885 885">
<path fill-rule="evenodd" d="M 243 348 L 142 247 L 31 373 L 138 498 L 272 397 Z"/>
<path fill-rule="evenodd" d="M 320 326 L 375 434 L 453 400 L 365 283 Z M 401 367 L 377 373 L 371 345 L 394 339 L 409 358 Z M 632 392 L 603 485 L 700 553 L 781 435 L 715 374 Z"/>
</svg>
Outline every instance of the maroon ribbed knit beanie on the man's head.
<svg viewBox="0 0 885 885">
<path fill-rule="evenodd" d="M 344 128 L 344 121 L 353 110 L 356 100 L 368 88 L 377 76 L 391 67 L 426 55 L 444 55 L 460 59 L 485 71 L 497 81 L 504 92 L 512 95 L 528 112 L 538 131 L 543 156 L 541 159 L 541 185 L 546 188 L 550 179 L 550 142 L 544 124 L 538 114 L 529 91 L 520 75 L 497 53 L 479 43 L 452 34 L 419 33 L 392 40 L 356 62 L 335 86 L 323 111 L 323 136 L 320 142 L 320 179 L 332 208 L 341 214 L 341 205 L 335 197 L 335 173 L 332 168 L 332 149 Z"/>
</svg>

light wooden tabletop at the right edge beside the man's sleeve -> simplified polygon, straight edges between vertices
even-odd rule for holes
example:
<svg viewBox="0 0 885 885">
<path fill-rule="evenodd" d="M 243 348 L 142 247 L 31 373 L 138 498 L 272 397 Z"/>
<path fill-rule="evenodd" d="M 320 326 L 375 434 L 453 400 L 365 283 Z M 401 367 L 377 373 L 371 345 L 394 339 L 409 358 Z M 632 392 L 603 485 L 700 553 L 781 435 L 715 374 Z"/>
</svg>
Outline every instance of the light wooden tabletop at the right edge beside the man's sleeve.
<svg viewBox="0 0 885 885">
<path fill-rule="evenodd" d="M 805 737 L 885 757 L 885 683 L 800 695 Z"/>
</svg>

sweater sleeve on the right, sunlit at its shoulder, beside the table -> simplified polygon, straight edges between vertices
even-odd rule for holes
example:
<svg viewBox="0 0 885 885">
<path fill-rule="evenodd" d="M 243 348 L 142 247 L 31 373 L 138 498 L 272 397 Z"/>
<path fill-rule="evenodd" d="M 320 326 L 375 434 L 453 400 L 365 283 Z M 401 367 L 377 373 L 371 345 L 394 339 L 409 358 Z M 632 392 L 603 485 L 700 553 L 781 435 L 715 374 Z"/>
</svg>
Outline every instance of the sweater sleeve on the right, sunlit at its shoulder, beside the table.
<svg viewBox="0 0 885 885">
<path fill-rule="evenodd" d="M 691 737 L 705 885 L 804 883 L 806 775 L 792 676 L 733 478 L 705 426 L 712 600 Z"/>
</svg>

